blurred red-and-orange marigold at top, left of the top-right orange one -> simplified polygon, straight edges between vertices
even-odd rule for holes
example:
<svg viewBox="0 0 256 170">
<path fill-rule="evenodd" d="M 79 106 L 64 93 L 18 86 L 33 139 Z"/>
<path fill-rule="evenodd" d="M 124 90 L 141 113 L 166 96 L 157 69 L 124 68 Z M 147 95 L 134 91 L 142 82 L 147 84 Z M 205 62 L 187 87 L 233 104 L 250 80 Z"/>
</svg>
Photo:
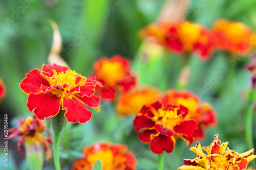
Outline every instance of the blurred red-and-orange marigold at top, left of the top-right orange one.
<svg viewBox="0 0 256 170">
<path fill-rule="evenodd" d="M 198 52 L 202 59 L 207 59 L 215 48 L 215 36 L 203 26 L 188 21 L 151 24 L 142 31 L 142 36 L 153 37 L 170 51 Z"/>
</svg>

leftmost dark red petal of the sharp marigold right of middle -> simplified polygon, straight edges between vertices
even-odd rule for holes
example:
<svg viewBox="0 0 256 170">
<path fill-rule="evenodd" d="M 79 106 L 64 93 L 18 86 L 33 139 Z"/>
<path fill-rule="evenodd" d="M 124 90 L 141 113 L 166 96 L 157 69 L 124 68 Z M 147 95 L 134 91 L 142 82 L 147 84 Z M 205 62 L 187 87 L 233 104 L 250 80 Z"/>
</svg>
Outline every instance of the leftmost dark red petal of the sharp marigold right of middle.
<svg viewBox="0 0 256 170">
<path fill-rule="evenodd" d="M 141 129 L 144 128 L 153 128 L 155 126 L 155 123 L 152 122 L 152 120 L 145 115 L 136 116 L 133 120 L 133 126 L 135 127 L 135 132 L 139 132 Z"/>
</svg>

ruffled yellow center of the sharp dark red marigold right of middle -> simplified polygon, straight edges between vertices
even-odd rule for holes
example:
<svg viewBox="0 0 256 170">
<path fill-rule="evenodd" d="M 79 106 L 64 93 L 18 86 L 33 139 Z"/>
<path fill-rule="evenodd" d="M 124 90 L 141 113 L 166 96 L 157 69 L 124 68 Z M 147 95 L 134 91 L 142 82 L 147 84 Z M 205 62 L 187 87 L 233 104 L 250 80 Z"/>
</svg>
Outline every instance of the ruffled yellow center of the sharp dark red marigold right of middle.
<svg viewBox="0 0 256 170">
<path fill-rule="evenodd" d="M 158 109 L 152 120 L 156 124 L 162 125 L 163 128 L 173 130 L 176 125 L 180 125 L 182 119 L 182 115 L 178 115 L 177 110 L 178 108 L 174 108 L 174 110 Z"/>
</svg>

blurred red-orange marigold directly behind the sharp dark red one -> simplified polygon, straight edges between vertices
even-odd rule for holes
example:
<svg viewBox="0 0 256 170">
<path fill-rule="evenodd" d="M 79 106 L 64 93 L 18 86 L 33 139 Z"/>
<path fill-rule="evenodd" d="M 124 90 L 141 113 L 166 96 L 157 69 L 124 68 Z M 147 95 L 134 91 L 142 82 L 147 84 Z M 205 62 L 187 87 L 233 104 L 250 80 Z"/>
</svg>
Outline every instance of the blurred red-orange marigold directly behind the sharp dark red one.
<svg viewBox="0 0 256 170">
<path fill-rule="evenodd" d="M 161 101 L 165 105 L 186 107 L 188 116 L 197 121 L 198 127 L 193 134 L 190 137 L 184 137 L 188 141 L 188 145 L 195 140 L 204 138 L 205 127 L 217 124 L 216 113 L 211 105 L 201 102 L 195 94 L 189 91 L 170 90 L 162 96 Z"/>
</svg>

